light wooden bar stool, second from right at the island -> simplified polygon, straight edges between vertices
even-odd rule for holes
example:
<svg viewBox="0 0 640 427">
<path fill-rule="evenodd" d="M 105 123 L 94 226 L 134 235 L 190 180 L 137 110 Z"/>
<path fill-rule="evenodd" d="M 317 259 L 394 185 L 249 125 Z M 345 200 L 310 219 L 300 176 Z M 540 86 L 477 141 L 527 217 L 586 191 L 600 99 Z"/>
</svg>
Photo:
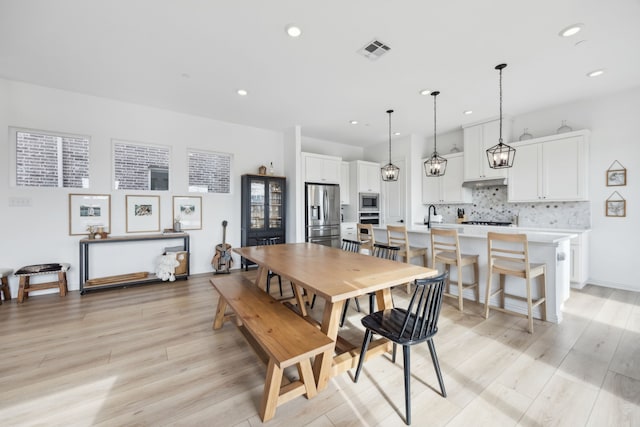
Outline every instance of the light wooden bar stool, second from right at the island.
<svg viewBox="0 0 640 427">
<path fill-rule="evenodd" d="M 447 277 L 447 287 L 445 296 L 458 299 L 458 309 L 463 309 L 462 293 L 465 289 L 473 288 L 476 302 L 480 302 L 480 290 L 478 288 L 478 255 L 463 254 L 460 252 L 460 239 L 458 230 L 454 229 L 431 229 L 431 267 L 436 268 L 436 264 L 444 264 L 445 270 L 451 273 L 451 266 L 458 268 L 458 295 L 451 293 L 451 277 Z M 471 283 L 462 282 L 462 267 L 470 265 L 473 268 L 473 279 Z"/>
</svg>

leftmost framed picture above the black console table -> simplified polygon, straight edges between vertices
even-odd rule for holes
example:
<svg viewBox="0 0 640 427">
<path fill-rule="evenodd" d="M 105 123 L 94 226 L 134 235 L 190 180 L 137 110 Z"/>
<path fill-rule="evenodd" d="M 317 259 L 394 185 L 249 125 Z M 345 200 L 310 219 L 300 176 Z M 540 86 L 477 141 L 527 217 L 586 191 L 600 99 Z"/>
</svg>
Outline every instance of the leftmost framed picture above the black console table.
<svg viewBox="0 0 640 427">
<path fill-rule="evenodd" d="M 87 227 L 111 230 L 111 196 L 108 194 L 69 194 L 69 235 L 89 234 Z"/>
</svg>

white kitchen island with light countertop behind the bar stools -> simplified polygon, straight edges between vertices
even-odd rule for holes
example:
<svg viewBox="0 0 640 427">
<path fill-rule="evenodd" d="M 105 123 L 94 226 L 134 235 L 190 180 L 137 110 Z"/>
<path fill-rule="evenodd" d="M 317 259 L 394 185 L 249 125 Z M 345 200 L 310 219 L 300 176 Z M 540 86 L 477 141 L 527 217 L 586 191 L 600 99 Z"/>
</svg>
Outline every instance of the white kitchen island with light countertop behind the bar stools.
<svg viewBox="0 0 640 427">
<path fill-rule="evenodd" d="M 522 233 L 527 235 L 529 241 L 529 261 L 532 263 L 545 263 L 547 265 L 546 274 L 546 318 L 547 321 L 560 323 L 562 321 L 562 308 L 564 302 L 569 298 L 570 293 L 570 240 L 576 237 L 572 233 L 555 233 L 532 231 L 519 229 L 517 227 L 491 227 L 482 225 L 462 225 L 462 224 L 438 224 L 434 228 L 455 228 L 458 230 L 460 238 L 460 249 L 463 253 L 478 254 L 480 263 L 480 302 L 484 304 L 485 291 L 487 286 L 487 233 Z M 426 225 L 414 225 L 408 228 L 409 242 L 412 246 L 422 246 L 429 248 L 429 259 L 431 259 L 431 230 Z M 377 242 L 386 242 L 386 227 L 374 227 Z M 418 262 L 415 258 L 413 262 Z M 430 266 L 433 267 L 433 266 Z M 440 267 L 442 268 L 442 267 Z M 451 270 L 451 281 L 457 281 L 457 270 Z M 465 282 L 470 281 L 470 271 L 464 270 Z M 498 277 L 494 275 L 494 287 Z M 533 299 L 539 297 L 539 286 L 532 282 Z M 526 296 L 523 279 L 514 277 L 506 278 L 506 288 L 508 293 Z M 451 287 L 452 293 L 457 292 L 457 286 Z M 467 294 L 468 292 L 468 294 Z M 473 290 L 465 291 L 464 297 L 473 300 Z M 492 300 L 492 304 L 497 304 Z M 527 313 L 526 303 L 523 301 L 508 299 L 505 301 L 506 308 L 525 314 Z M 541 319 L 541 307 L 534 309 L 534 317 Z"/>
</svg>

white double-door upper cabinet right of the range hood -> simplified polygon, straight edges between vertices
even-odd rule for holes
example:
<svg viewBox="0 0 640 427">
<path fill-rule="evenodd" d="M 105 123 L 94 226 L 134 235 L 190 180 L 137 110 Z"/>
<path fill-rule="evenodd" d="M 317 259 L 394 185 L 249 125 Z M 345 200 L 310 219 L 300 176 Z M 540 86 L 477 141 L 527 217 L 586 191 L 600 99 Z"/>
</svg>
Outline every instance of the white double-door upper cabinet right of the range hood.
<svg viewBox="0 0 640 427">
<path fill-rule="evenodd" d="M 577 131 L 513 144 L 509 202 L 586 201 L 589 131 Z"/>
</svg>

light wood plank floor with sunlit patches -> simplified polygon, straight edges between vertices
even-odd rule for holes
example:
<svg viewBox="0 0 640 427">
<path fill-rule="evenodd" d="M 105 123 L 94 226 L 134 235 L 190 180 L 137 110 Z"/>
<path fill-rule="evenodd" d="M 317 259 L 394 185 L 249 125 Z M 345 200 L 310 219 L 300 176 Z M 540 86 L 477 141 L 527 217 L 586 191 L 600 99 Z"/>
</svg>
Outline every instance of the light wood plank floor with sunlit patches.
<svg viewBox="0 0 640 427">
<path fill-rule="evenodd" d="M 0 425 L 261 425 L 265 368 L 234 325 L 211 329 L 210 278 L 5 302 Z M 394 298 L 401 305 L 404 290 Z M 526 319 L 484 320 L 472 302 L 465 314 L 454 303 L 435 337 L 446 399 L 428 347 L 412 350 L 413 425 L 640 425 L 638 293 L 572 291 L 563 323 L 536 322 L 534 335 Z M 361 314 L 349 314 L 346 332 L 359 342 Z M 375 358 L 358 384 L 344 373 L 267 425 L 402 426 L 401 363 Z"/>
</svg>

